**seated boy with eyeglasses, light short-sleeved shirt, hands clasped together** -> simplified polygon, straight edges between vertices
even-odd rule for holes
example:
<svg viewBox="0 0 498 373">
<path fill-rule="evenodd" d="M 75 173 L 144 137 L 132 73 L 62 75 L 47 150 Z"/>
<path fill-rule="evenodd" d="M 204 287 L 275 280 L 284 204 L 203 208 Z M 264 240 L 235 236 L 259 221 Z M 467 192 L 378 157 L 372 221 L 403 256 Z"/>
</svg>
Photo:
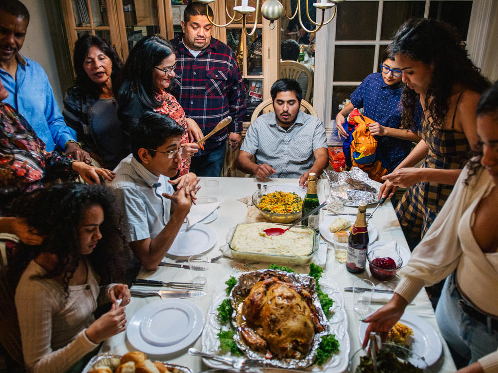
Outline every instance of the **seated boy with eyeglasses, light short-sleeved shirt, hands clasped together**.
<svg viewBox="0 0 498 373">
<path fill-rule="evenodd" d="M 132 153 L 116 167 L 110 183 L 124 208 L 131 250 L 148 271 L 168 252 L 199 189 L 193 173 L 169 180 L 182 160 L 183 132 L 170 117 L 145 112 L 130 130 Z"/>
</svg>

